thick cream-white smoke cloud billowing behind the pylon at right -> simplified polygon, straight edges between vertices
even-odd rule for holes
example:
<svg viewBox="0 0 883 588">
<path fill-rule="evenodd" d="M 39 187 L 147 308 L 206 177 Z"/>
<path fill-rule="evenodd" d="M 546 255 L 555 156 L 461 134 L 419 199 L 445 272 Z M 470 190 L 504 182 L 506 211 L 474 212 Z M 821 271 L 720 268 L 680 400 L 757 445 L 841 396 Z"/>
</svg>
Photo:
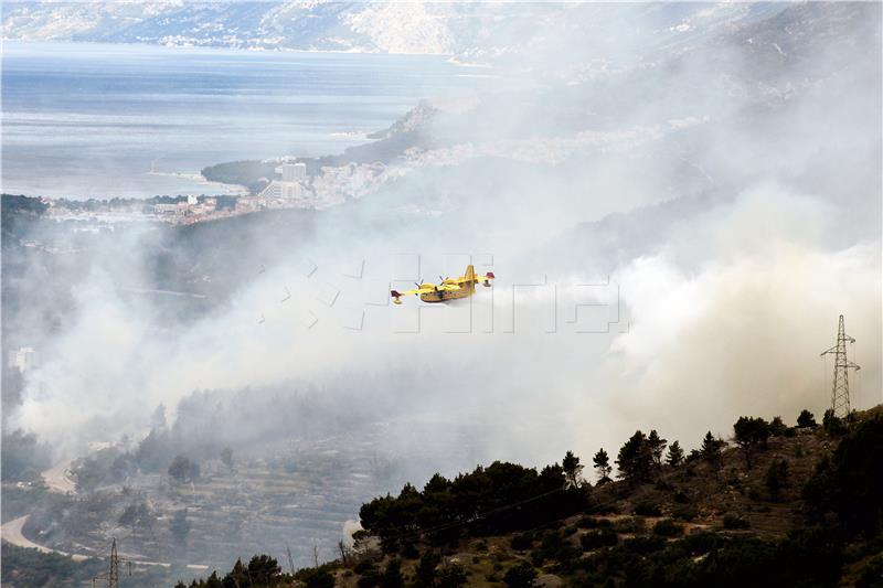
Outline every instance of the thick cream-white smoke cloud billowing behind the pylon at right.
<svg viewBox="0 0 883 588">
<path fill-rule="evenodd" d="M 614 343 L 608 368 L 625 368 L 630 388 L 606 408 L 626 421 L 649 411 L 660 429 L 693 442 L 703 428 L 727 436 L 735 415 L 821 414 L 833 366 L 819 353 L 833 344 L 839 313 L 858 340 L 851 357 L 862 365 L 853 406 L 879 404 L 880 246 L 819 247 L 834 228 L 831 212 L 762 186 L 702 215 L 664 252 L 623 268 L 634 328 Z"/>
</svg>

